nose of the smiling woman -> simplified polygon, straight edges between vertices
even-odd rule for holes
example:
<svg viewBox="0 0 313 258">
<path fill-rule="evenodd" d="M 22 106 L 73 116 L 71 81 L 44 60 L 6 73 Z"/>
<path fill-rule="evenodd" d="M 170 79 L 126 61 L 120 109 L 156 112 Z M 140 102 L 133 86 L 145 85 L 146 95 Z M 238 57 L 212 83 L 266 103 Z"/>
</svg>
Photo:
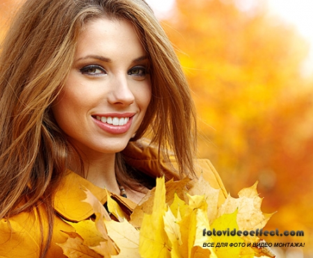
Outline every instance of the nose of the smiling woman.
<svg viewBox="0 0 313 258">
<path fill-rule="evenodd" d="M 134 103 L 135 97 L 130 88 L 130 82 L 126 76 L 114 76 L 111 79 L 111 90 L 109 92 L 108 101 L 110 104 L 120 104 L 129 106 Z"/>
</svg>

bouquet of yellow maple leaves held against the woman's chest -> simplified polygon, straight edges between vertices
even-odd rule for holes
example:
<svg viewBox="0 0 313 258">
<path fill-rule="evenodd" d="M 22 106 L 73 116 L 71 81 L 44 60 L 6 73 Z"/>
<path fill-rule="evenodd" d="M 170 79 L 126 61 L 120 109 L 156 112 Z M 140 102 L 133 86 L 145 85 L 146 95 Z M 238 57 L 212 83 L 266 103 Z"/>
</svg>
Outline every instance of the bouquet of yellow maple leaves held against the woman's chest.
<svg viewBox="0 0 313 258">
<path fill-rule="evenodd" d="M 189 179 L 164 182 L 143 198 L 130 219 L 108 194 L 108 209 L 118 218 L 112 220 L 97 198 L 86 190 L 95 220 L 70 223 L 76 232 L 58 245 L 67 257 L 191 258 L 191 257 L 275 257 L 269 248 L 257 248 L 264 240 L 257 236 L 220 236 L 206 232 L 216 229 L 242 232 L 262 229 L 272 214 L 261 211 L 262 198 L 257 184 L 243 188 L 239 198 L 228 195 L 218 207 L 220 190 L 202 177 L 186 191 Z"/>
</svg>

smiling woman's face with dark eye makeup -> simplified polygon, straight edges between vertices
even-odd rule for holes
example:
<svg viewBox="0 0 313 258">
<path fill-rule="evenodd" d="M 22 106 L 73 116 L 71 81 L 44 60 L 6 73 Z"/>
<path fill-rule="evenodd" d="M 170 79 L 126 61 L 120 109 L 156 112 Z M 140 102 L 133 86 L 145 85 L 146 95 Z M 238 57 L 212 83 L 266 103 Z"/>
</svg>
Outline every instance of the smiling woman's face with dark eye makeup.
<svg viewBox="0 0 313 258">
<path fill-rule="evenodd" d="M 84 26 L 74 65 L 52 106 L 59 127 L 83 154 L 126 147 L 150 103 L 148 66 L 130 22 L 103 18 Z"/>
</svg>

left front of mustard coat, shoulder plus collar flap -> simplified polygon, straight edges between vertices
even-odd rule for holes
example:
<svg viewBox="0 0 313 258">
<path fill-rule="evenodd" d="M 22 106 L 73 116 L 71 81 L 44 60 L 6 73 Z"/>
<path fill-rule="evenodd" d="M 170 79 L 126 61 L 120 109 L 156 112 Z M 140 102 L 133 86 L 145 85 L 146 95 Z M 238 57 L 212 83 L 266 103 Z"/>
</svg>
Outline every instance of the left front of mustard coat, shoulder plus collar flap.
<svg viewBox="0 0 313 258">
<path fill-rule="evenodd" d="M 89 219 L 93 215 L 93 207 L 83 202 L 86 199 L 86 189 L 93 193 L 104 204 L 107 200 L 106 191 L 94 186 L 83 177 L 68 171 L 54 195 L 54 227 L 51 245 L 47 257 L 65 257 L 58 243 L 65 243 L 67 234 L 74 232 L 70 223 Z M 135 204 L 130 200 L 115 196 L 125 211 L 132 211 Z M 49 221 L 45 215 L 43 204 L 10 218 L 0 220 L 0 257 L 34 258 L 39 257 L 42 235 L 47 236 Z M 44 238 L 44 243 L 47 239 Z"/>
</svg>

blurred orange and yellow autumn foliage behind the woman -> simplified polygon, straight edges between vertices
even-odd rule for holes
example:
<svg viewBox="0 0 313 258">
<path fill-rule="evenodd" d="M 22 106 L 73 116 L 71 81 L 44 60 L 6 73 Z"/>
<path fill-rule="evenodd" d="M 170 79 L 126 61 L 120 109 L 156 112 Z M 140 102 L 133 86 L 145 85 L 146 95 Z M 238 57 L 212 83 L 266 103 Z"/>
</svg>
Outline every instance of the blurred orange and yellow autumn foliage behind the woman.
<svg viewBox="0 0 313 258">
<path fill-rule="evenodd" d="M 0 1 L 2 35 L 17 2 Z M 275 250 L 278 257 L 313 257 L 313 74 L 303 72 L 310 48 L 269 15 L 266 1 L 257 3 L 247 11 L 235 0 L 176 0 L 162 24 L 193 90 L 199 156 L 233 197 L 259 181 L 262 210 L 278 211 L 266 229 L 305 232 L 267 237 L 305 243 Z"/>
</svg>

